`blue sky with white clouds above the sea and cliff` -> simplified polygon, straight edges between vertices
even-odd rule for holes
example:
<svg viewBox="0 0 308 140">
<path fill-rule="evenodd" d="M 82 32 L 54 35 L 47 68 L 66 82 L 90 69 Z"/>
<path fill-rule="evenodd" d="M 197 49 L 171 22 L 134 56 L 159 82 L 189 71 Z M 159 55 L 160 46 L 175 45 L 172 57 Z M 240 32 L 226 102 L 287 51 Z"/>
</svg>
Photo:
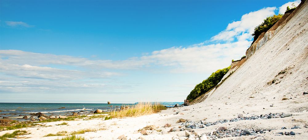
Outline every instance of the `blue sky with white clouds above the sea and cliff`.
<svg viewBox="0 0 308 140">
<path fill-rule="evenodd" d="M 0 102 L 183 102 L 300 1 L 0 1 Z"/>
</svg>

